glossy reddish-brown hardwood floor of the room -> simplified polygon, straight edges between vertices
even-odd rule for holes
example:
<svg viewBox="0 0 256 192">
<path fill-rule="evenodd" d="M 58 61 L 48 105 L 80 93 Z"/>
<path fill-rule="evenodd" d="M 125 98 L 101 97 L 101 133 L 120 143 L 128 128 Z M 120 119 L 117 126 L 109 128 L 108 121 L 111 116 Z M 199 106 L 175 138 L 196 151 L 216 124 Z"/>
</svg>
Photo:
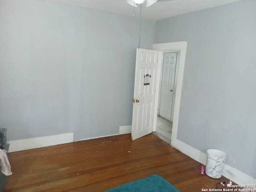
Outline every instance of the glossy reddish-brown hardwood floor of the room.
<svg viewBox="0 0 256 192">
<path fill-rule="evenodd" d="M 201 164 L 154 134 L 130 134 L 9 153 L 5 192 L 100 192 L 158 174 L 181 192 L 229 180 L 201 175 Z M 221 186 L 221 185 L 219 185 Z"/>
</svg>

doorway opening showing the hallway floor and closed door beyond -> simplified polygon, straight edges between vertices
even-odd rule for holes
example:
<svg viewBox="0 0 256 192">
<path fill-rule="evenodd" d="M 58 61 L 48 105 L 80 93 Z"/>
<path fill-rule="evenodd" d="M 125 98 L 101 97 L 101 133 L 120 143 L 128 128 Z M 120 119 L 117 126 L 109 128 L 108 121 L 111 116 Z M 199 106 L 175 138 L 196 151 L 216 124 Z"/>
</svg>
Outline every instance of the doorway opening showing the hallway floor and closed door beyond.
<svg viewBox="0 0 256 192">
<path fill-rule="evenodd" d="M 156 131 L 153 134 L 169 144 L 172 137 L 179 58 L 180 51 L 164 51 L 161 62 Z"/>
</svg>

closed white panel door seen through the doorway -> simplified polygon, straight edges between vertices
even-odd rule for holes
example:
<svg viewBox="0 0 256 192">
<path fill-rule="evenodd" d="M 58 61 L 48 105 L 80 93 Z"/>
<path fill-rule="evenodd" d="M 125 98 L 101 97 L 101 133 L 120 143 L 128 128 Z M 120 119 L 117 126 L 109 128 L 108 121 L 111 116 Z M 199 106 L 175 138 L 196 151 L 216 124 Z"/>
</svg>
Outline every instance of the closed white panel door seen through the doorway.
<svg viewBox="0 0 256 192">
<path fill-rule="evenodd" d="M 176 61 L 177 61 L 176 52 L 164 53 L 159 115 L 170 121 L 173 119 L 172 104 L 173 104 L 173 95 L 174 95 Z"/>
</svg>

